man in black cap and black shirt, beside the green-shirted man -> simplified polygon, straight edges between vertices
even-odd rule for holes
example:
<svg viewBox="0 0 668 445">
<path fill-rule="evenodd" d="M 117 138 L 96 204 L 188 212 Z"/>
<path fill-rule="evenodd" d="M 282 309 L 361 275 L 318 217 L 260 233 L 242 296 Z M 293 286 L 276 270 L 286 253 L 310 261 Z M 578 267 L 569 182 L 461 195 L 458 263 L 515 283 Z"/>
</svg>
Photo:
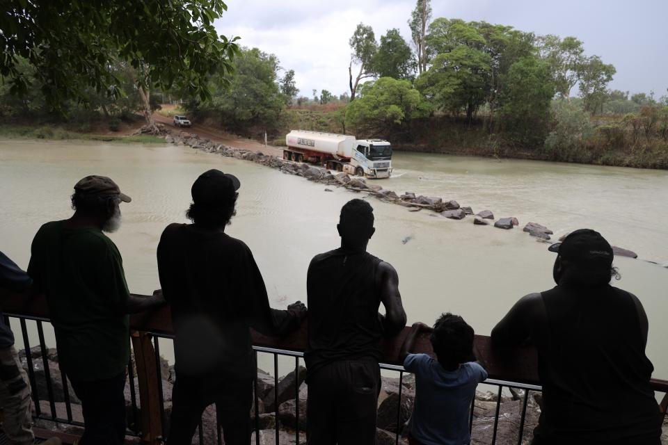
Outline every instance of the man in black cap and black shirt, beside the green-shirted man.
<svg viewBox="0 0 668 445">
<path fill-rule="evenodd" d="M 269 307 L 253 253 L 225 234 L 239 179 L 220 170 L 192 186 L 192 224 L 170 224 L 158 245 L 158 272 L 171 305 L 176 382 L 168 445 L 191 443 L 202 412 L 216 403 L 225 444 L 250 443 L 250 406 L 257 373 L 250 327 L 267 335 L 299 328 L 301 302 Z"/>
</svg>

